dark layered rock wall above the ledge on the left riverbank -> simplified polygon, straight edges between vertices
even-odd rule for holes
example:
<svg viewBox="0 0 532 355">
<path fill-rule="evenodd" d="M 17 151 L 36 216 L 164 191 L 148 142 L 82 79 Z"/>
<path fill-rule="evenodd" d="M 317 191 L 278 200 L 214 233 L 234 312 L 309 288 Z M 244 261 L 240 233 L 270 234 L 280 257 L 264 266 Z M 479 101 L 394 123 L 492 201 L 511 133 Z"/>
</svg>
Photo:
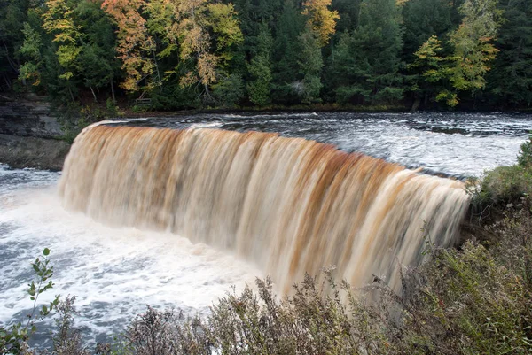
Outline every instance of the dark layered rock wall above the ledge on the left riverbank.
<svg viewBox="0 0 532 355">
<path fill-rule="evenodd" d="M 50 105 L 38 101 L 0 101 L 0 134 L 57 138 L 61 128 Z"/>
</svg>

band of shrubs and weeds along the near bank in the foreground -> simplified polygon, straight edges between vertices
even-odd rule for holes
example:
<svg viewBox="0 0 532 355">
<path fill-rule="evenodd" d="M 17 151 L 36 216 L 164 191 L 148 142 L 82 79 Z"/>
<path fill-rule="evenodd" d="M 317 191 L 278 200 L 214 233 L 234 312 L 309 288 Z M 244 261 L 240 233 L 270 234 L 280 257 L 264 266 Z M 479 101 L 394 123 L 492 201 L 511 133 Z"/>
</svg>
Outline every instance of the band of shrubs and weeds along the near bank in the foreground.
<svg viewBox="0 0 532 355">
<path fill-rule="evenodd" d="M 92 351 L 74 328 L 74 299 L 36 307 L 50 289 L 47 259 L 35 260 L 28 294 L 42 316 L 59 314 L 53 348 L 35 351 L 27 325 L 0 328 L 0 354 L 529 354 L 532 353 L 532 140 L 516 166 L 489 173 L 473 191 L 473 216 L 491 238 L 457 249 L 426 243 L 427 261 L 403 267 L 397 293 L 386 280 L 352 289 L 307 276 L 277 297 L 270 279 L 215 302 L 207 318 L 148 307 L 111 344 Z M 475 211 L 491 211 L 489 218 Z M 497 214 L 497 216 L 496 216 Z M 489 224 L 489 227 L 486 227 Z M 474 235 L 473 235 L 474 237 Z M 49 251 L 44 251 L 45 256 Z"/>
</svg>

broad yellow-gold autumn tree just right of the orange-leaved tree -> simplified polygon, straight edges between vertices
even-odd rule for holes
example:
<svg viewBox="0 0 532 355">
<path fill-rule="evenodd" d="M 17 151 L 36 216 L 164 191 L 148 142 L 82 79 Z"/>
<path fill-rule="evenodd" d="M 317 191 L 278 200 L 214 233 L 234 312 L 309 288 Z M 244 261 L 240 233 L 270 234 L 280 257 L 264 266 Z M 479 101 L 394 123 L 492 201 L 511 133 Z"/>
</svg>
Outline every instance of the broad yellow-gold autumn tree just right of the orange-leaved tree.
<svg viewBox="0 0 532 355">
<path fill-rule="evenodd" d="M 180 61 L 168 74 L 177 74 L 182 87 L 201 85 L 207 101 L 213 101 L 210 86 L 220 77 L 229 77 L 223 69 L 231 61 L 232 47 L 243 41 L 232 4 L 156 0 L 146 5 L 146 12 L 148 27 L 165 45 L 160 58 L 178 53 Z M 183 65 L 188 70 L 182 74 Z"/>
</svg>

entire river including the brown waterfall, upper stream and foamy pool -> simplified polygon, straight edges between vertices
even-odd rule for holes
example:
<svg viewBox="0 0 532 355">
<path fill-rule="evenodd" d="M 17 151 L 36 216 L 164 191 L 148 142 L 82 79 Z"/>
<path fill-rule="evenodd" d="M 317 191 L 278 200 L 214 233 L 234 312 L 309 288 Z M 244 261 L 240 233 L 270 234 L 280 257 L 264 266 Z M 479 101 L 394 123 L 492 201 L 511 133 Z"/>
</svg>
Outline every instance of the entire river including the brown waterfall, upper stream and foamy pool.
<svg viewBox="0 0 532 355">
<path fill-rule="evenodd" d="M 530 130 L 529 115 L 461 112 L 208 113 L 92 127 L 62 175 L 0 165 L 0 324 L 26 319 L 30 263 L 45 247 L 55 286 L 39 299 L 75 295 L 87 342 L 111 341 L 145 305 L 206 314 L 231 285 L 267 274 L 280 291 L 331 265 L 355 285 L 379 274 L 396 286 L 426 235 L 453 243 L 461 180 L 513 164 Z M 36 343 L 52 327 L 39 323 Z"/>
</svg>

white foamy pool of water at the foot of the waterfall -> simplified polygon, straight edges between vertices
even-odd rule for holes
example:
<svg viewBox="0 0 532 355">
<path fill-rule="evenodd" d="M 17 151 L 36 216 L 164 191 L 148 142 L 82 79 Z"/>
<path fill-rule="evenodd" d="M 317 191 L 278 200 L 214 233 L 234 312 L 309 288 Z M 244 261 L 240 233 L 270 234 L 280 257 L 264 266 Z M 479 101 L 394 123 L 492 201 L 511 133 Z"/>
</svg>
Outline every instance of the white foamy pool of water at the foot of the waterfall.
<svg viewBox="0 0 532 355">
<path fill-rule="evenodd" d="M 66 212 L 55 187 L 4 191 L 0 323 L 31 307 L 25 294 L 30 263 L 45 247 L 51 249 L 56 286 L 41 300 L 50 301 L 57 293 L 75 295 L 81 311 L 77 324 L 90 336 L 117 333 L 145 305 L 206 313 L 231 285 L 242 289 L 260 276 L 254 266 L 178 235 L 109 228 Z"/>
</svg>

